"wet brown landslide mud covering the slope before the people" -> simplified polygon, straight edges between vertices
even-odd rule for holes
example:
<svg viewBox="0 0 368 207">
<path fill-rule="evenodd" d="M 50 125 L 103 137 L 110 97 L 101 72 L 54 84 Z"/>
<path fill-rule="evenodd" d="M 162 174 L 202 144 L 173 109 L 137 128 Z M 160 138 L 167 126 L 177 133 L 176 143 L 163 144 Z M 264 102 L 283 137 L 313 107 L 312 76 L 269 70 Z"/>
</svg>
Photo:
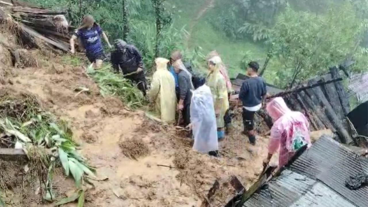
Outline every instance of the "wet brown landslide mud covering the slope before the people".
<svg viewBox="0 0 368 207">
<path fill-rule="evenodd" d="M 234 122 L 234 132 L 220 143 L 219 158 L 200 154 L 191 149 L 191 140 L 178 135 L 173 127 L 146 119 L 143 111 L 127 110 L 117 98 L 103 98 L 83 67 L 39 50 L 28 52 L 38 67 L 14 68 L 0 57 L 4 60 L 0 71 L 8 71 L 1 73 L 0 90 L 32 94 L 45 110 L 68 121 L 74 139 L 81 144 L 81 154 L 96 167 L 99 178 L 107 178 L 92 181 L 95 187 L 87 191 L 86 207 L 197 207 L 215 180 L 235 175 L 249 187 L 258 177 L 268 139 L 258 137 L 256 146 L 250 145 L 241 134 L 239 120 Z M 88 88 L 89 93 L 76 95 L 78 87 Z M 137 151 L 132 146 L 140 148 Z M 8 172 L 12 173 L 7 170 L 6 175 Z M 55 177 L 58 198 L 74 192 L 73 181 L 64 182 L 62 171 Z M 9 191 L 13 197 L 19 196 L 19 192 Z M 213 198 L 213 206 L 226 204 L 229 195 L 223 191 Z M 27 191 L 29 195 L 35 192 Z M 14 206 L 52 206 L 28 197 Z"/>
</svg>

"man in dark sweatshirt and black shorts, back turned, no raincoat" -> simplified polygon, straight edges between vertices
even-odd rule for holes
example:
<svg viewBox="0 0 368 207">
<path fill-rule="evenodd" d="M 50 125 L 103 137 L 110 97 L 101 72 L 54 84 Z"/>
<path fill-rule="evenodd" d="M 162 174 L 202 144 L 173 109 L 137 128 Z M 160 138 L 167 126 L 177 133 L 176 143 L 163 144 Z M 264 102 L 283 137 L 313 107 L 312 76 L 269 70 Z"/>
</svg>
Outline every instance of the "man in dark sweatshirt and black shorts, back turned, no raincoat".
<svg viewBox="0 0 368 207">
<path fill-rule="evenodd" d="M 243 103 L 244 134 L 248 135 L 252 145 L 255 145 L 254 113 L 262 108 L 267 93 L 265 81 L 262 77 L 258 77 L 258 69 L 257 62 L 248 63 L 249 78 L 243 82 L 239 92 L 239 99 Z"/>
</svg>

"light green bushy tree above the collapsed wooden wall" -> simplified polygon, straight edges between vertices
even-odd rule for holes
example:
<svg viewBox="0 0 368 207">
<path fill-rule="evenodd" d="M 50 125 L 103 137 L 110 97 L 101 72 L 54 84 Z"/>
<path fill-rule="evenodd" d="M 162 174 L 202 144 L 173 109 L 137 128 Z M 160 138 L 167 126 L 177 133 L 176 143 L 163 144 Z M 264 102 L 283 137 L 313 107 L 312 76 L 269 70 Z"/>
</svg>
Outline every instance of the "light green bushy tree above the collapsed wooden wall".
<svg viewBox="0 0 368 207">
<path fill-rule="evenodd" d="M 355 16 L 347 2 L 331 7 L 324 15 L 294 11 L 290 7 L 279 15 L 269 39 L 272 56 L 284 66 L 275 69 L 275 83 L 291 87 L 296 80 L 324 74 L 328 67 L 342 63 L 352 55 L 353 70 L 366 70 L 367 50 L 359 43 L 367 24 Z"/>
</svg>

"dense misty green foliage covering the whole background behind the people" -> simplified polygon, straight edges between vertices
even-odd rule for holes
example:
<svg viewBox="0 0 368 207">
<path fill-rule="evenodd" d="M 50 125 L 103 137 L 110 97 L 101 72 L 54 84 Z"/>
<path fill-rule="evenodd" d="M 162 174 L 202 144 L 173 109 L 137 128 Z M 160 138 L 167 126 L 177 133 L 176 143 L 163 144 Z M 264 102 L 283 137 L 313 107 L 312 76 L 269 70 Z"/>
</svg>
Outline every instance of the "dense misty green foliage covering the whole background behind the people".
<svg viewBox="0 0 368 207">
<path fill-rule="evenodd" d="M 84 14 L 92 14 L 110 41 L 125 37 L 128 43 L 137 46 L 148 70 L 153 67 L 155 57 L 169 57 L 174 49 L 184 51 L 185 59 L 195 63 L 195 69 L 203 65 L 204 56 L 199 48 L 204 43 L 197 42 L 190 48 L 185 43 L 185 28 L 190 28 L 188 25 L 193 24 L 191 21 L 201 9 L 201 4 L 196 3 L 198 11 L 192 11 L 194 7 L 189 4 L 194 0 L 189 0 L 188 6 L 179 0 L 28 1 L 67 10 L 74 26 L 79 25 Z M 203 1 L 203 6 L 208 2 Z M 245 61 L 258 60 L 262 65 L 266 57 L 271 57 L 266 61 L 270 60 L 265 72 L 267 81 L 290 87 L 295 81 L 325 73 L 329 66 L 341 64 L 348 56 L 357 60 L 352 70 L 367 70 L 367 5 L 368 0 L 214 0 L 203 17 L 210 28 L 198 34 L 218 38 L 211 39 L 212 44 L 206 43 L 205 51 L 216 49 L 227 57 L 237 54 L 238 59 L 225 62 L 231 70 L 244 73 Z M 182 18 L 186 13 L 191 16 Z M 224 34 L 228 39 L 206 34 L 211 32 Z M 238 51 L 224 46 L 233 40 L 258 43 L 244 50 L 239 47 Z M 254 51 L 256 47 L 262 49 Z"/>
</svg>

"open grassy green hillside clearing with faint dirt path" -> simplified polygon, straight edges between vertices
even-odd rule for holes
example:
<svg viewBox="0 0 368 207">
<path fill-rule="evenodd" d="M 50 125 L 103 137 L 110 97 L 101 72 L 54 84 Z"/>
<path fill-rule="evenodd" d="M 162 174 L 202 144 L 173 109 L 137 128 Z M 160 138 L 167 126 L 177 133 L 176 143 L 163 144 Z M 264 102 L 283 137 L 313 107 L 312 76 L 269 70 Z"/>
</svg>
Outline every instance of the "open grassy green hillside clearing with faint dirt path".
<svg viewBox="0 0 368 207">
<path fill-rule="evenodd" d="M 198 13 L 206 7 L 205 0 L 170 0 L 168 3 L 174 6 L 172 11 L 175 26 L 178 29 L 185 27 L 188 32 L 191 32 L 188 47 L 200 46 L 204 54 L 217 50 L 223 62 L 229 66 L 231 77 L 235 77 L 240 72 L 245 73 L 244 69 L 240 69 L 240 61 L 245 53 L 248 54 L 249 59 L 258 60 L 263 64 L 266 49 L 262 44 L 252 40 L 231 40 L 212 27 L 209 12 L 212 7 L 209 7 L 198 21 L 194 21 Z"/>
</svg>

